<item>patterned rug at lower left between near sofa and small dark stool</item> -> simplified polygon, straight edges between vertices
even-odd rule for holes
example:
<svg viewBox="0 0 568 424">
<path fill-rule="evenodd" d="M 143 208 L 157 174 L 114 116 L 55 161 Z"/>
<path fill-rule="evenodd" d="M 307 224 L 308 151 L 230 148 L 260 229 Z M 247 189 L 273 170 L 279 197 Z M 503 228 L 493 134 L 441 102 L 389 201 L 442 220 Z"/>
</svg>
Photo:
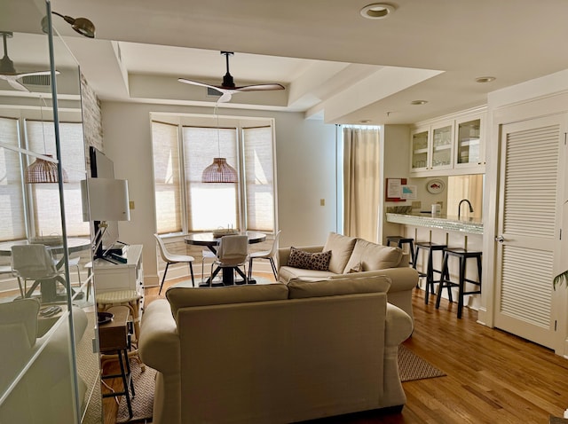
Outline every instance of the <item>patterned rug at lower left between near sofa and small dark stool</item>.
<svg viewBox="0 0 568 424">
<path fill-rule="evenodd" d="M 137 359 L 130 360 L 134 391 L 136 396 L 131 399 L 132 418 L 128 416 L 126 397 L 121 397 L 116 413 L 117 424 L 123 422 L 151 422 L 154 406 L 154 378 L 156 370 L 146 365 L 146 371 L 142 372 Z"/>
</svg>

